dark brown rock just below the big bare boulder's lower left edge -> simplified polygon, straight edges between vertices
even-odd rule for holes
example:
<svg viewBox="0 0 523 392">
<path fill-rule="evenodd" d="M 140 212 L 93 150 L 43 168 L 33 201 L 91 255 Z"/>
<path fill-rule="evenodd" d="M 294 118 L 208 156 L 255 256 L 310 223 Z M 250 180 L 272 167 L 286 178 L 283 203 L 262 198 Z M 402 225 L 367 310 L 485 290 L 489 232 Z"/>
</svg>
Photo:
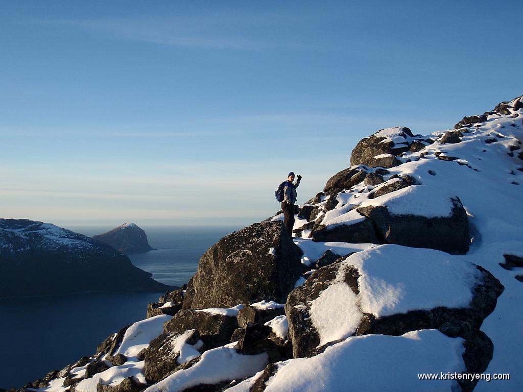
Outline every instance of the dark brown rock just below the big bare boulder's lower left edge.
<svg viewBox="0 0 523 392">
<path fill-rule="evenodd" d="M 233 316 L 182 309 L 165 323 L 164 332 L 179 335 L 195 328 L 200 333 L 205 349 L 209 350 L 229 343 L 232 333 L 238 328 L 238 321 Z"/>
</svg>

